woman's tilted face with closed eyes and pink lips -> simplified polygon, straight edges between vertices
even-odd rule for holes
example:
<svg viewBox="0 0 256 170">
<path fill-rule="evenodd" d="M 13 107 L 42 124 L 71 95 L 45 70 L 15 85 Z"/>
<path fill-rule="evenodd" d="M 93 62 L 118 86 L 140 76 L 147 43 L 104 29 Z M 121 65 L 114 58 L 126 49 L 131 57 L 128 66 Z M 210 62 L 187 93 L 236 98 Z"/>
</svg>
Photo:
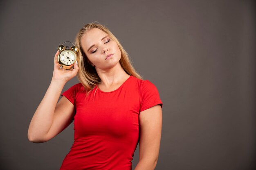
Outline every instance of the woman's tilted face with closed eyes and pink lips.
<svg viewBox="0 0 256 170">
<path fill-rule="evenodd" d="M 92 28 L 82 36 L 81 46 L 97 71 L 109 70 L 121 59 L 117 43 L 98 28 Z"/>
</svg>

